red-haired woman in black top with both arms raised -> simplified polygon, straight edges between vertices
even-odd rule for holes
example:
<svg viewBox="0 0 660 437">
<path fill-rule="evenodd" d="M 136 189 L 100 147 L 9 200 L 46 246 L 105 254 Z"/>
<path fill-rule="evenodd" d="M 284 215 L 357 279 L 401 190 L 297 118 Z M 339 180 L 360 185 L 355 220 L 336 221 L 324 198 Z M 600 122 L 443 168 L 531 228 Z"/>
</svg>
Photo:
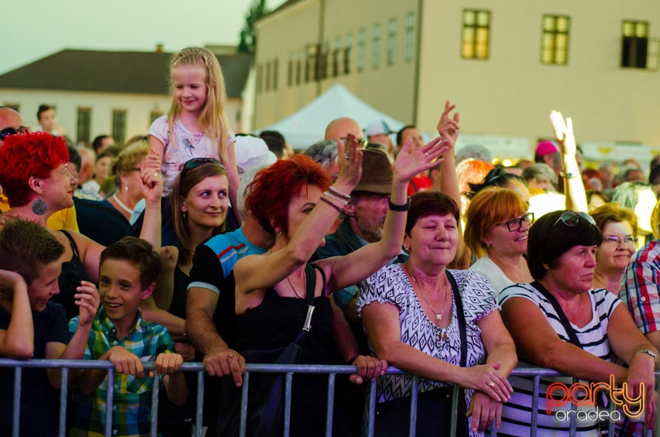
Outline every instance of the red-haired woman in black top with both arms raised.
<svg viewBox="0 0 660 437">
<path fill-rule="evenodd" d="M 241 258 L 234 267 L 238 350 L 272 350 L 294 341 L 307 316 L 309 292 L 314 298 L 311 339 L 302 348 L 300 362 L 329 363 L 333 337 L 341 337 L 337 330 L 341 326 L 333 321 L 330 293 L 358 284 L 399 254 L 410 207 L 408 182 L 437 165 L 433 161 L 447 150 L 446 144 L 436 139 L 414 152 L 410 146 L 401 150 L 393 166 L 390 209 L 379 242 L 312 264 L 309 258 L 324 244 L 327 230 L 360 181 L 362 152 L 357 142 L 347 142 L 344 153 L 338 141 L 340 172 L 333 186 L 327 172 L 307 156 L 294 155 L 257 173 L 250 192 L 258 192 L 259 198 L 248 194 L 245 208 L 264 229 L 274 232 L 275 244 L 263 255 Z M 307 284 L 314 284 L 314 288 L 308 289 Z M 357 345 L 354 351 L 358 353 Z M 386 369 L 386 363 L 374 357 L 344 355 L 366 378 L 375 380 Z M 356 377 L 354 381 L 360 383 L 362 379 Z M 291 411 L 296 420 L 291 422 L 292 436 L 323 434 L 326 385 L 325 377 L 294 377 Z"/>
</svg>

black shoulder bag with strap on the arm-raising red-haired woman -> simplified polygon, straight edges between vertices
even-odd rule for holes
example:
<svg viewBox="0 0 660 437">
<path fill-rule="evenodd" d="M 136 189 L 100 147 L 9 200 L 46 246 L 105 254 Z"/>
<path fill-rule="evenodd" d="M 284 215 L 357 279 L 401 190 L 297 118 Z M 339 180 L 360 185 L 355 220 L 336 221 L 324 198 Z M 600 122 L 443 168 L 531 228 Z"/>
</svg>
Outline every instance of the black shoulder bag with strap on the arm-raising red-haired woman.
<svg viewBox="0 0 660 437">
<path fill-rule="evenodd" d="M 316 271 L 314 265 L 305 267 L 307 291 L 307 317 L 303 328 L 292 343 L 272 350 L 240 350 L 248 363 L 297 364 L 303 347 L 309 341 L 311 317 L 314 314 L 314 290 Z M 233 437 L 239 435 L 241 425 L 241 392 L 231 377 L 223 377 L 217 421 L 210 423 L 209 436 Z M 281 436 L 284 423 L 285 375 L 283 373 L 250 374 L 248 390 L 248 417 L 246 436 Z"/>
</svg>

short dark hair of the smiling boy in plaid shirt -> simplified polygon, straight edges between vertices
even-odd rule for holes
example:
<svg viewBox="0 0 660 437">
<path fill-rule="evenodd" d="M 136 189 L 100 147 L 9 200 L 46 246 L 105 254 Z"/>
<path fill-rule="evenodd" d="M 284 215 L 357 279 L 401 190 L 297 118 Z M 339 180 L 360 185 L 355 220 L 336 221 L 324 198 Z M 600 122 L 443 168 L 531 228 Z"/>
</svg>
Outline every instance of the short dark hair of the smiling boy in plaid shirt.
<svg viewBox="0 0 660 437">
<path fill-rule="evenodd" d="M 160 273 L 160 256 L 151 243 L 133 236 L 126 236 L 103 249 L 100 265 L 109 259 L 124 260 L 134 265 L 140 271 L 142 289 L 156 282 Z"/>
</svg>

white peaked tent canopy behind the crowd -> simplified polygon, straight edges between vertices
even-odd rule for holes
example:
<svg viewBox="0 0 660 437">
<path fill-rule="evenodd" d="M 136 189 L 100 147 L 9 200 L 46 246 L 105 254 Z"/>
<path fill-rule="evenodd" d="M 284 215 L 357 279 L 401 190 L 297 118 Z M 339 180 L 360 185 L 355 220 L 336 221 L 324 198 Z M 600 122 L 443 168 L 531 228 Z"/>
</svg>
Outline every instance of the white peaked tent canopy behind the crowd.
<svg viewBox="0 0 660 437">
<path fill-rule="evenodd" d="M 353 96 L 343 85 L 336 84 L 296 113 L 265 126 L 256 133 L 278 131 L 293 148 L 302 149 L 323 139 L 328 123 L 340 117 L 353 118 L 363 129 L 376 120 L 386 122 L 392 131 L 398 131 L 404 126 L 398 120 Z"/>
</svg>

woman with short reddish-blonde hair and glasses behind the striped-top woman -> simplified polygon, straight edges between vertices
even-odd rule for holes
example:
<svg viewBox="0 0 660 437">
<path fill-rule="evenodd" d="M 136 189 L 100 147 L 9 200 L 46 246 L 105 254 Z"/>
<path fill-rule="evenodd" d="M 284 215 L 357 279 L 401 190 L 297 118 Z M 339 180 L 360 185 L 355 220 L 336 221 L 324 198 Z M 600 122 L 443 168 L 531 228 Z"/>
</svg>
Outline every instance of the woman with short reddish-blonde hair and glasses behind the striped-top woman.
<svg viewBox="0 0 660 437">
<path fill-rule="evenodd" d="M 603 234 L 603 243 L 596 249 L 593 288 L 618 296 L 621 276 L 637 247 L 637 217 L 629 208 L 612 203 L 595 208 L 591 216 Z"/>
</svg>

